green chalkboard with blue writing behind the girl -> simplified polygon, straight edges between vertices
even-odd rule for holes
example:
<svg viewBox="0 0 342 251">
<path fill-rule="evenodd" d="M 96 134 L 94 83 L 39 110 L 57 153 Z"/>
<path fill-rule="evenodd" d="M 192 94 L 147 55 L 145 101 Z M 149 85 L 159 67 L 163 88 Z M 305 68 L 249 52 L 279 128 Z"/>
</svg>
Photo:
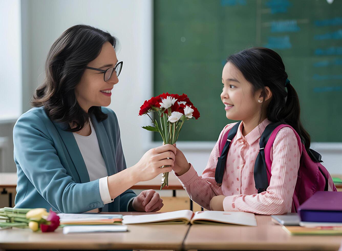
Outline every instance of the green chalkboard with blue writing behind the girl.
<svg viewBox="0 0 342 251">
<path fill-rule="evenodd" d="M 154 94 L 186 93 L 201 113 L 179 141 L 216 141 L 233 122 L 220 98 L 222 69 L 252 46 L 282 57 L 312 141 L 341 142 L 341 0 L 155 0 Z"/>
</svg>

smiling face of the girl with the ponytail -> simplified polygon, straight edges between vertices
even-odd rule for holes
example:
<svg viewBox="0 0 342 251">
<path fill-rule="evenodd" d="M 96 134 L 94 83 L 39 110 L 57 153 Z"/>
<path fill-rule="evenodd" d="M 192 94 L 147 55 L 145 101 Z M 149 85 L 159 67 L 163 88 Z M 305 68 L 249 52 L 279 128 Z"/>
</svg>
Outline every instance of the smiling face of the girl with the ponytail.
<svg viewBox="0 0 342 251">
<path fill-rule="evenodd" d="M 252 94 L 252 85 L 230 62 L 222 71 L 223 90 L 221 100 L 225 104 L 226 117 L 232 120 L 250 121 L 260 118 L 261 90 Z"/>
</svg>

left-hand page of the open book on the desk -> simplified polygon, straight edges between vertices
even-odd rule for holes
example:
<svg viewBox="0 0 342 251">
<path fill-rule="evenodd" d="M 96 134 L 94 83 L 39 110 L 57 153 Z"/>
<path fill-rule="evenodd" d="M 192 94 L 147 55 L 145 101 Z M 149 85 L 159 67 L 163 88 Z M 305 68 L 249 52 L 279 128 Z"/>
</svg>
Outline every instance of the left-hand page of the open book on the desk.
<svg viewBox="0 0 342 251">
<path fill-rule="evenodd" d="M 190 210 L 179 210 L 167 213 L 158 214 L 145 214 L 145 215 L 124 215 L 122 223 L 123 224 L 139 224 L 139 223 L 152 223 L 152 222 L 162 222 L 169 220 L 185 219 L 190 221 L 193 216 L 193 211 Z"/>
</svg>

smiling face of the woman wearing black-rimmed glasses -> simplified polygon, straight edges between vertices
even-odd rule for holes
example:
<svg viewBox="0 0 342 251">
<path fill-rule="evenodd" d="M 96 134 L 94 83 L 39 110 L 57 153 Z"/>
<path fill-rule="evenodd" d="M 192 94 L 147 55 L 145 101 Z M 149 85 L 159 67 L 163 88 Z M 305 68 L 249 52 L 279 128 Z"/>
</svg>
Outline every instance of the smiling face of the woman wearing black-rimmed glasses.
<svg viewBox="0 0 342 251">
<path fill-rule="evenodd" d="M 100 54 L 87 66 L 106 70 L 114 67 L 117 62 L 118 59 L 113 46 L 106 42 L 103 44 Z M 110 104 L 111 90 L 118 82 L 119 79 L 115 71 L 110 79 L 105 82 L 102 72 L 86 69 L 75 88 L 77 102 L 86 112 L 92 106 L 108 106 Z M 110 93 L 103 91 L 110 91 Z"/>
</svg>

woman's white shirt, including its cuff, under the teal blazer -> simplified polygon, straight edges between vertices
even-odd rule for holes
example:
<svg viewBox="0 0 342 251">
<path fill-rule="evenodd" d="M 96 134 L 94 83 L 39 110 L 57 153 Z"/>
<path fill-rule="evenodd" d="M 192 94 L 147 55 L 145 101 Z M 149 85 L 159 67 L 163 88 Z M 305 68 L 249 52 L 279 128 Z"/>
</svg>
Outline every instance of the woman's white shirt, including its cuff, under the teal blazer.
<svg viewBox="0 0 342 251">
<path fill-rule="evenodd" d="M 100 189 L 100 196 L 104 204 L 108 204 L 113 200 L 110 198 L 108 189 L 108 173 L 105 161 L 100 151 L 100 146 L 98 145 L 96 132 L 94 130 L 93 124 L 90 122 L 91 134 L 89 136 L 82 136 L 77 133 L 73 133 L 75 140 L 77 142 L 78 148 L 81 151 L 84 163 L 86 164 L 89 179 L 98 181 L 98 186 Z"/>
</svg>

